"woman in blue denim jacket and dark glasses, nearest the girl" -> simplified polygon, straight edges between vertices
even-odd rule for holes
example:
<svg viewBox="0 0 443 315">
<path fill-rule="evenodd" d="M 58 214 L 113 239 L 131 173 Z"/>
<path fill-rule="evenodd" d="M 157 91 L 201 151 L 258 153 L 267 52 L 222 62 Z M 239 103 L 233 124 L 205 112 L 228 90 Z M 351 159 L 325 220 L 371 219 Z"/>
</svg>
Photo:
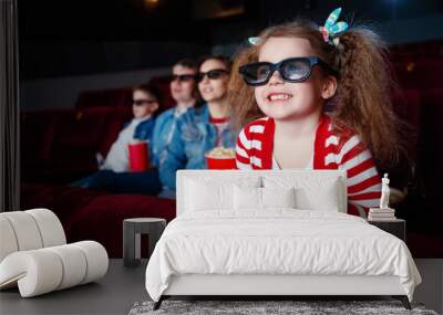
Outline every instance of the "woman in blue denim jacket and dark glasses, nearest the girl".
<svg viewBox="0 0 443 315">
<path fill-rule="evenodd" d="M 234 148 L 236 135 L 230 124 L 227 84 L 230 62 L 225 56 L 208 56 L 198 63 L 198 91 L 206 102 L 184 114 L 161 156 L 159 178 L 164 196 L 174 196 L 177 169 L 205 169 L 205 155 L 215 147 Z"/>
</svg>

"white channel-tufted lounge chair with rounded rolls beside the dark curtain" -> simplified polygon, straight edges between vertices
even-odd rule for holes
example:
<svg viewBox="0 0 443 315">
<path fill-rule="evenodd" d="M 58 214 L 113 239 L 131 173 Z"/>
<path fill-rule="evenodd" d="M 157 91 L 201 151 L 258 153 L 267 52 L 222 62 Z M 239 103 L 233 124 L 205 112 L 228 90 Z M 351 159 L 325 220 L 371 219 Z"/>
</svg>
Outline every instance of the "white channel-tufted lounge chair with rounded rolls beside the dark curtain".
<svg viewBox="0 0 443 315">
<path fill-rule="evenodd" d="M 31 297 L 96 281 L 106 274 L 97 242 L 66 244 L 62 224 L 48 209 L 0 213 L 0 288 L 18 286 Z"/>
</svg>

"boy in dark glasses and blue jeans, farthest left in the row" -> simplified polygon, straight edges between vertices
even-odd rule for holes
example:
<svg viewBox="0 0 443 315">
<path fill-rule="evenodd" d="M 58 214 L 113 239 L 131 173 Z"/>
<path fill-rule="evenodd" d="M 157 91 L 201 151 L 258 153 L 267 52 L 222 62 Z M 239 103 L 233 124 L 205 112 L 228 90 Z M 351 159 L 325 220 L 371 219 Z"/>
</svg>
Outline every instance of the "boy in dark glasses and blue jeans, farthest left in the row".
<svg viewBox="0 0 443 315">
<path fill-rule="evenodd" d="M 155 157 L 152 154 L 152 139 L 155 126 L 154 113 L 158 109 L 158 93 L 150 85 L 133 90 L 134 118 L 120 132 L 112 145 L 100 171 L 74 182 L 72 186 L 105 190 L 113 193 L 157 195 L 161 191 L 158 171 L 150 168 L 146 171 L 130 170 L 128 145 L 133 140 L 146 141 L 150 148 L 150 164 Z"/>
</svg>

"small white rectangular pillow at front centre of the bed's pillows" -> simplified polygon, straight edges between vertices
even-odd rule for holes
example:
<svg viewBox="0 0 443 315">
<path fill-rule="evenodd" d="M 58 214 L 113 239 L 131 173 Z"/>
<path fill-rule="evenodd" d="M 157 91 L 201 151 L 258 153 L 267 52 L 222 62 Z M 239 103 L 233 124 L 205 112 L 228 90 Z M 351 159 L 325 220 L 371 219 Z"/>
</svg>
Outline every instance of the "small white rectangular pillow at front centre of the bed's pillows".
<svg viewBox="0 0 443 315">
<path fill-rule="evenodd" d="M 234 209 L 266 210 L 267 208 L 295 208 L 296 195 L 290 188 L 251 188 L 234 186 Z"/>
</svg>

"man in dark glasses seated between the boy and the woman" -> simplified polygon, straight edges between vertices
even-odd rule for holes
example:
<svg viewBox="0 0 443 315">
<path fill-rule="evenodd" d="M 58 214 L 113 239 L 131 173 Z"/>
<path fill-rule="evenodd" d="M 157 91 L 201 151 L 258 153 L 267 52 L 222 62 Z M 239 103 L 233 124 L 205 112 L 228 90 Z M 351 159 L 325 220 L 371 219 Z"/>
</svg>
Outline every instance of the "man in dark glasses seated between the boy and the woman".
<svg viewBox="0 0 443 315">
<path fill-rule="evenodd" d="M 158 166 L 159 156 L 171 143 L 177 119 L 195 105 L 197 64 L 189 59 L 178 61 L 173 66 L 171 95 L 176 106 L 163 112 L 155 122 L 153 136 L 154 164 Z"/>
</svg>

